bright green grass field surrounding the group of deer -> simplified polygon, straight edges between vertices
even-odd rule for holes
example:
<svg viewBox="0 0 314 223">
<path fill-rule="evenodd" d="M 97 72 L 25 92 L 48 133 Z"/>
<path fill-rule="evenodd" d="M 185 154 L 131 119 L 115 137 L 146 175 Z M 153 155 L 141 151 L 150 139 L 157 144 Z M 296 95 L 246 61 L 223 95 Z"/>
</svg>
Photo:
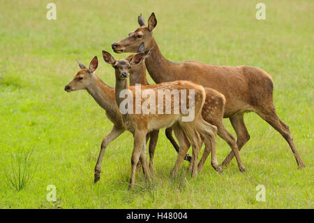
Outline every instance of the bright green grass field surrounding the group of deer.
<svg viewBox="0 0 314 223">
<path fill-rule="evenodd" d="M 255 19 L 260 1 L 54 1 L 57 20 L 47 20 L 49 2 L 1 1 L 0 208 L 314 208 L 313 1 L 264 0 L 266 20 Z M 112 52 L 114 41 L 138 27 L 137 15 L 147 20 L 153 11 L 154 36 L 172 62 L 246 64 L 272 76 L 277 113 L 289 125 L 305 169 L 297 168 L 277 131 L 248 113 L 251 140 L 240 152 L 246 173 L 233 160 L 218 174 L 208 159 L 197 178 L 190 178 L 185 162 L 171 179 L 177 153 L 161 130 L 150 184 L 137 173 L 137 185 L 128 191 L 129 133 L 108 146 L 94 184 L 100 143 L 112 123 L 87 92 L 63 88 L 79 71 L 75 59 L 87 65 L 95 55 L 96 74 L 114 86 L 101 50 Z M 229 120 L 224 123 L 234 134 Z M 4 170 L 11 170 L 12 154 L 29 150 L 37 171 L 17 192 L 6 185 Z M 230 152 L 220 138 L 217 152 L 219 162 Z M 56 186 L 56 202 L 47 201 L 47 185 Z M 265 202 L 255 199 L 257 185 L 265 186 Z"/>
</svg>

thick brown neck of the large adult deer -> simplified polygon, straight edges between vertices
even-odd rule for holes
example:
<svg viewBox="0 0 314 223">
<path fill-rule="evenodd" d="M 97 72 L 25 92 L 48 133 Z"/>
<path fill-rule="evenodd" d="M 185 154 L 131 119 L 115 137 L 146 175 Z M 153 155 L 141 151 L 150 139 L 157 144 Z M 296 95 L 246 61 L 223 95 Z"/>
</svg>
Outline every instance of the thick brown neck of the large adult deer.
<svg viewBox="0 0 314 223">
<path fill-rule="evenodd" d="M 149 57 L 145 59 L 145 65 L 149 75 L 156 82 L 169 82 L 172 80 L 177 80 L 174 73 L 171 72 L 171 67 L 174 63 L 165 59 L 161 54 L 155 38 L 153 37 L 153 47 L 151 48 L 151 53 Z"/>
</svg>

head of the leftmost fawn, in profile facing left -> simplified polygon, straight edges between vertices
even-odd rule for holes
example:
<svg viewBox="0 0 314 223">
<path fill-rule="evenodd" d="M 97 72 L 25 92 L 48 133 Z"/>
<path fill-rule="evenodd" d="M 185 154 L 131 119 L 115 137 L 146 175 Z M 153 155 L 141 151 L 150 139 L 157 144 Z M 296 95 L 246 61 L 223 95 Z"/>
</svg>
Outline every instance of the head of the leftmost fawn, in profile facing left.
<svg viewBox="0 0 314 223">
<path fill-rule="evenodd" d="M 89 85 L 91 85 L 91 81 L 93 75 L 95 75 L 95 71 L 98 66 L 98 59 L 94 57 L 89 64 L 89 68 L 87 69 L 81 62 L 77 61 L 80 66 L 80 71 L 74 76 L 73 80 L 64 87 L 66 92 L 74 92 L 79 89 L 87 89 Z"/>
</svg>

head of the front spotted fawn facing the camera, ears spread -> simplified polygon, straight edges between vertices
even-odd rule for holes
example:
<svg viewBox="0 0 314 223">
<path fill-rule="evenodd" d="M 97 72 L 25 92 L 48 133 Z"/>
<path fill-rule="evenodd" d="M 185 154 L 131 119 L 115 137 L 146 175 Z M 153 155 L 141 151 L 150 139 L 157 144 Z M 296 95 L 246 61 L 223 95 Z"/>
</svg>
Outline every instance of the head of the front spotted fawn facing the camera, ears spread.
<svg viewBox="0 0 314 223">
<path fill-rule="evenodd" d="M 133 55 L 129 59 L 114 59 L 109 52 L 103 50 L 103 59 L 107 64 L 111 64 L 114 68 L 117 80 L 123 80 L 128 78 L 130 69 L 137 64 L 140 64 L 144 58 L 144 52 L 139 52 Z"/>
</svg>

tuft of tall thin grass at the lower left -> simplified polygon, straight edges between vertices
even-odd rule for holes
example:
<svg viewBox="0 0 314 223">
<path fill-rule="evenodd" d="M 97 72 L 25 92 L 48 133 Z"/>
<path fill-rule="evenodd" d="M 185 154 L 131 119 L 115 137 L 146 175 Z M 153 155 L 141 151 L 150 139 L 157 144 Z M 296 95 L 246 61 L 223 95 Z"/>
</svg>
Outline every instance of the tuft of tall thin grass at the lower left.
<svg viewBox="0 0 314 223">
<path fill-rule="evenodd" d="M 33 180 L 37 170 L 37 165 L 34 165 L 31 160 L 32 150 L 27 150 L 22 153 L 12 154 L 10 164 L 3 167 L 6 175 L 6 185 L 11 189 L 20 191 L 27 187 Z"/>
</svg>

